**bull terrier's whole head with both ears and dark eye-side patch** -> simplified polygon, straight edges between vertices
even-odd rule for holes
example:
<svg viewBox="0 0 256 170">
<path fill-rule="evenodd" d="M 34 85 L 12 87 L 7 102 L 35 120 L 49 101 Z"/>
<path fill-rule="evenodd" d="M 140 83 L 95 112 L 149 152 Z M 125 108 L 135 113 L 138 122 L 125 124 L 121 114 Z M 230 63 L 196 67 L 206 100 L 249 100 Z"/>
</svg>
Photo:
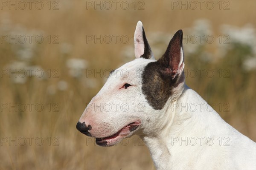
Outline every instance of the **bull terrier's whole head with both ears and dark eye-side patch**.
<svg viewBox="0 0 256 170">
<path fill-rule="evenodd" d="M 114 145 L 135 132 L 154 135 L 165 125 L 166 103 L 177 99 L 183 90 L 182 36 L 182 31 L 177 31 L 156 61 L 139 21 L 134 35 L 136 59 L 111 72 L 76 128 L 95 137 L 101 146 Z"/>
</svg>

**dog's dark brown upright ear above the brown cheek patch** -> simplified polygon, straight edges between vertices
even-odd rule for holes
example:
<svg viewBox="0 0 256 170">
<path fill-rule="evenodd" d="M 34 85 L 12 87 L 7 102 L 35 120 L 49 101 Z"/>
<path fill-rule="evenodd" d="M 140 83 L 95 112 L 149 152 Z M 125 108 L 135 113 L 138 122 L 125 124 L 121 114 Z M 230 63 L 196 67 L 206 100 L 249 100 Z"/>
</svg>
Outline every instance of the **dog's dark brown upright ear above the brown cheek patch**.
<svg viewBox="0 0 256 170">
<path fill-rule="evenodd" d="M 183 72 L 184 64 L 184 55 L 182 48 L 182 30 L 177 31 L 172 40 L 169 42 L 169 45 L 166 49 L 166 52 L 159 59 L 161 65 L 161 73 L 166 76 L 174 79 Z"/>
</svg>

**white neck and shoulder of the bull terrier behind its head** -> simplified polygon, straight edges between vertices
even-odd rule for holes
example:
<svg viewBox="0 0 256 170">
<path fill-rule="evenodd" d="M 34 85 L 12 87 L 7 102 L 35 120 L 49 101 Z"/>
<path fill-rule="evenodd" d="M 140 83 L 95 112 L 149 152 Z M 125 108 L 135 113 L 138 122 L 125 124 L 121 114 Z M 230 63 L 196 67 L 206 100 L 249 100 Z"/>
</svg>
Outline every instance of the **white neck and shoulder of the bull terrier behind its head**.
<svg viewBox="0 0 256 170">
<path fill-rule="evenodd" d="M 166 105 L 164 119 L 170 124 L 157 134 L 142 136 L 148 146 L 157 169 L 255 169 L 256 144 L 227 124 L 195 91 L 185 86 L 180 98 Z M 197 105 L 195 112 L 181 108 L 180 103 Z M 169 105 L 175 106 L 172 111 Z M 201 105 L 203 107 L 201 107 Z M 207 106 L 204 107 L 204 106 Z M 199 108 L 202 108 L 200 110 Z M 180 111 L 181 110 L 181 111 Z M 208 110 L 208 111 L 207 111 Z M 209 111 L 212 110 L 212 111 Z M 173 120 L 174 119 L 174 120 Z M 163 122 L 163 121 L 162 121 Z M 161 124 L 161 123 L 159 123 Z M 160 125 L 159 125 L 160 126 Z M 188 140 L 186 140 L 186 137 Z M 204 137 L 204 139 L 203 139 Z M 206 143 L 212 137 L 214 143 Z M 218 139 L 221 137 L 221 145 Z M 227 140 L 230 139 L 229 142 Z M 179 138 L 178 142 L 172 139 Z M 188 141 L 187 145 L 183 141 Z M 197 139 L 197 144 L 189 139 Z M 202 139 L 202 144 L 200 143 Z M 224 142 L 227 142 L 224 146 Z M 210 145 L 212 144 L 212 145 Z"/>
</svg>

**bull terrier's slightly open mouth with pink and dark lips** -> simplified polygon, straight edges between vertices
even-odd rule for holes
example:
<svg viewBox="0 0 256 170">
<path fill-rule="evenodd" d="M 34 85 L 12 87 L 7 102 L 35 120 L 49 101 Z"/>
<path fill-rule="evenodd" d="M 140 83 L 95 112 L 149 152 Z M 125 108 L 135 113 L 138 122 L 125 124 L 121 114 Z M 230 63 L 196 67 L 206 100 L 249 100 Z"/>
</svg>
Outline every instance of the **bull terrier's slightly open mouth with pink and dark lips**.
<svg viewBox="0 0 256 170">
<path fill-rule="evenodd" d="M 95 142 L 100 146 L 112 146 L 120 142 L 125 137 L 131 135 L 131 132 L 136 130 L 139 126 L 140 126 L 140 121 L 132 122 L 111 136 L 107 136 L 104 138 L 96 138 Z"/>
</svg>

